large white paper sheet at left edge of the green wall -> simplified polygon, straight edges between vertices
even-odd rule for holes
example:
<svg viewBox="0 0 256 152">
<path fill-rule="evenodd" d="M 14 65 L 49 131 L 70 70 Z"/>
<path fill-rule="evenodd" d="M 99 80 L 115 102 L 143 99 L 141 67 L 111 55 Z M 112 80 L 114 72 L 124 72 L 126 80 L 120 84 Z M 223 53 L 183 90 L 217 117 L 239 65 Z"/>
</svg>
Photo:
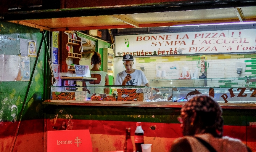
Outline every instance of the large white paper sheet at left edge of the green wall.
<svg viewBox="0 0 256 152">
<path fill-rule="evenodd" d="M 0 54 L 0 81 L 21 80 L 20 57 Z"/>
</svg>

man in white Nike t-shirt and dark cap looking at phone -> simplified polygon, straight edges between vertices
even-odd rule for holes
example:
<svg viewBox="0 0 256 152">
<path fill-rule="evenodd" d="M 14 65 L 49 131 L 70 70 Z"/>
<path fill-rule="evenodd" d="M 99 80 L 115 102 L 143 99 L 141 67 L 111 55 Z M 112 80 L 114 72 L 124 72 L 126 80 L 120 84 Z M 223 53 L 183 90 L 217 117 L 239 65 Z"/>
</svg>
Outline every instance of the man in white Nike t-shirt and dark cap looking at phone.
<svg viewBox="0 0 256 152">
<path fill-rule="evenodd" d="M 149 86 L 145 74 L 141 70 L 132 69 L 132 66 L 134 64 L 132 55 L 124 55 L 123 61 L 126 70 L 118 73 L 118 75 L 116 76 L 115 85 Z"/>
</svg>

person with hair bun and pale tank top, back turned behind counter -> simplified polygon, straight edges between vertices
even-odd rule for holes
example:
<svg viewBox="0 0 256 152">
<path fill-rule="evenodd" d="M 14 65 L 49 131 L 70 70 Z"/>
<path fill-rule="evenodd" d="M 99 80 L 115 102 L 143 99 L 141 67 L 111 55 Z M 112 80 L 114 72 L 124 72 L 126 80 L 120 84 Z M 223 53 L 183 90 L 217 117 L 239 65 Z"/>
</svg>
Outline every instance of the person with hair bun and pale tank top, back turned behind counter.
<svg viewBox="0 0 256 152">
<path fill-rule="evenodd" d="M 101 56 L 100 53 L 94 52 L 91 58 L 92 69 L 90 69 L 90 74 L 92 78 L 97 78 L 97 80 L 93 80 L 92 82 L 85 82 L 83 86 L 105 86 L 109 85 L 109 78 L 107 72 L 100 70 L 101 65 Z M 105 87 L 97 87 L 95 88 L 95 93 L 106 93 L 109 94 L 109 88 Z"/>
</svg>

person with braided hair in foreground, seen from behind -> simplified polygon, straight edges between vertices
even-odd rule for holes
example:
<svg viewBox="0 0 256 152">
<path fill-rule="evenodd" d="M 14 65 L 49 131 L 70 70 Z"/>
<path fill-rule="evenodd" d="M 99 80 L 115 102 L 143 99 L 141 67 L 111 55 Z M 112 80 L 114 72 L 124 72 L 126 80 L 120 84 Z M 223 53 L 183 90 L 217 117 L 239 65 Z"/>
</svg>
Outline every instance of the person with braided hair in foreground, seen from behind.
<svg viewBox="0 0 256 152">
<path fill-rule="evenodd" d="M 175 139 L 169 152 L 251 152 L 239 139 L 222 136 L 222 109 L 211 97 L 200 95 L 181 109 L 184 137 Z"/>
</svg>

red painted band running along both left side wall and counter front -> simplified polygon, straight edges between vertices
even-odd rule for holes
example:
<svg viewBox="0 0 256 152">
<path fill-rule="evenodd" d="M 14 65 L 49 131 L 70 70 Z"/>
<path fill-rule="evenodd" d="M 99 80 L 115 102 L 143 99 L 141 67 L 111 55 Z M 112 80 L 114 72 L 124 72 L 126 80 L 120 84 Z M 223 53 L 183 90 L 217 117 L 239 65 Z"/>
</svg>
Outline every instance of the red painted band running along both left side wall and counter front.
<svg viewBox="0 0 256 152">
<path fill-rule="evenodd" d="M 55 128 L 60 130 L 58 123 L 61 120 L 55 121 Z M 125 128 L 130 127 L 132 136 L 134 136 L 134 130 L 136 122 L 123 122 L 123 121 L 100 121 L 100 120 L 75 120 L 69 119 L 67 121 L 67 127 L 71 130 L 89 129 L 91 134 L 106 135 L 108 138 L 111 136 L 124 136 Z M 55 130 L 52 127 L 53 120 L 47 119 L 47 130 Z M 15 132 L 17 122 L 0 122 L 0 145 L 4 149 L 0 149 L 3 152 L 7 152 L 10 148 L 7 145 L 11 144 L 12 136 Z M 142 128 L 145 131 L 145 139 L 175 139 L 182 136 L 180 124 L 178 123 L 151 123 L 142 122 Z M 94 135 L 94 136 L 95 136 Z M 256 150 L 256 126 L 247 126 L 247 144 L 252 150 Z M 238 138 L 246 143 L 246 126 L 224 126 L 224 136 L 230 136 L 232 138 Z M 153 137 L 153 138 L 152 138 Z M 114 140 L 114 139 L 109 139 Z M 154 140 L 155 141 L 155 140 Z M 153 142 L 153 141 L 152 141 Z M 30 148 L 33 143 L 32 149 L 42 151 L 43 147 L 43 119 L 38 120 L 24 120 L 21 122 L 21 128 L 18 134 L 17 142 L 14 150 L 26 150 Z M 114 146 L 119 147 L 120 144 Z M 113 145 L 112 145 L 113 146 Z M 100 149 L 100 147 L 97 147 Z"/>
</svg>

